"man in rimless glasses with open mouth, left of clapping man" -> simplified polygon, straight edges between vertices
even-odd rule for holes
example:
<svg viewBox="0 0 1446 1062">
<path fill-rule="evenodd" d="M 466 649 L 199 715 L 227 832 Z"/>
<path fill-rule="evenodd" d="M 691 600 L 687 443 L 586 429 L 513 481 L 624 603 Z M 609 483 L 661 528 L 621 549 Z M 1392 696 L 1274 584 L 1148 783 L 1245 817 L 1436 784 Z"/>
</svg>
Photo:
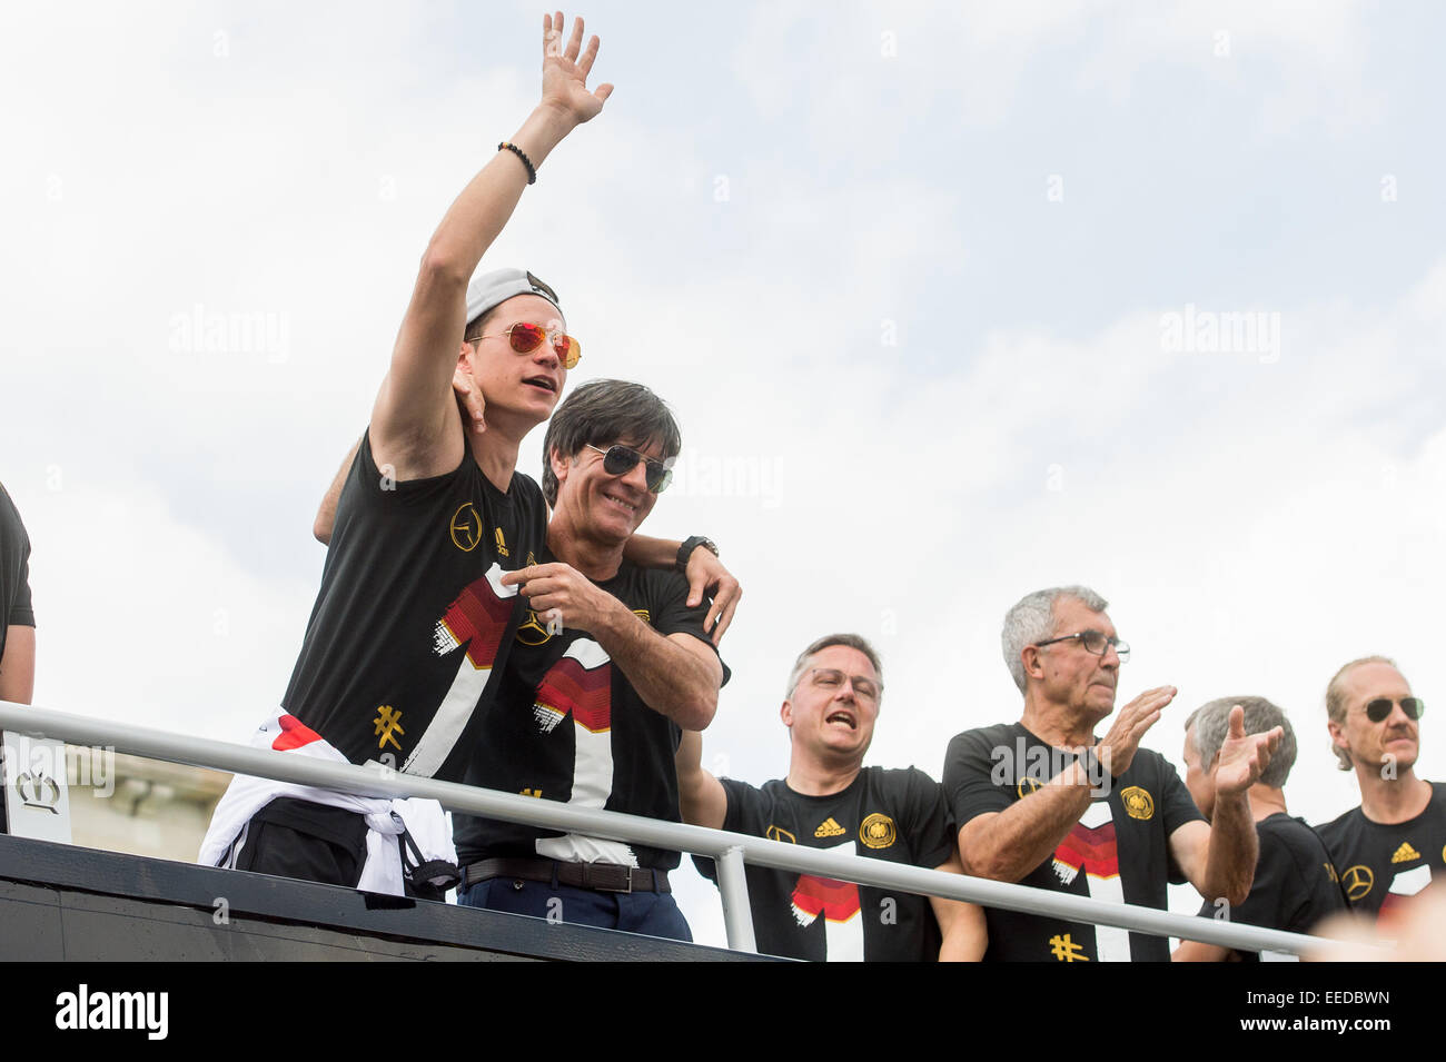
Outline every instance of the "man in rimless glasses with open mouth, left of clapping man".
<svg viewBox="0 0 1446 1062">
<path fill-rule="evenodd" d="M 884 698 L 879 659 L 857 634 L 830 634 L 794 663 L 779 709 L 788 776 L 761 789 L 703 769 L 700 734 L 678 747 L 683 818 L 774 841 L 959 873 L 953 824 L 921 770 L 865 767 Z M 711 876 L 711 861 L 698 861 Z M 748 867 L 758 948 L 813 961 L 920 962 L 983 955 L 983 912 L 814 874 Z"/>
</svg>

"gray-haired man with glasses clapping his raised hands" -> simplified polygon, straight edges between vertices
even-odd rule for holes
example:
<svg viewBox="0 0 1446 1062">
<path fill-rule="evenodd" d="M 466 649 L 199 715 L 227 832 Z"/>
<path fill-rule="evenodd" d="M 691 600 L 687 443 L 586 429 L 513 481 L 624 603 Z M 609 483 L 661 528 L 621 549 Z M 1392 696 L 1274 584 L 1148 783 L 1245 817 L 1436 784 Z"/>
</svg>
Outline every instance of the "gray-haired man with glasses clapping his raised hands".
<svg viewBox="0 0 1446 1062">
<path fill-rule="evenodd" d="M 1216 766 L 1207 825 L 1174 767 L 1139 747 L 1174 699 L 1148 689 L 1115 711 L 1129 646 L 1086 587 L 1041 590 L 1005 616 L 1005 663 L 1024 694 L 1018 722 L 959 734 L 944 790 L 959 822 L 964 873 L 1122 903 L 1165 907 L 1170 880 L 1203 897 L 1242 903 L 1257 837 L 1246 790 L 1280 733 L 1246 735 L 1233 712 Z M 1167 961 L 1168 941 L 1112 926 L 986 909 L 996 961 Z"/>
</svg>

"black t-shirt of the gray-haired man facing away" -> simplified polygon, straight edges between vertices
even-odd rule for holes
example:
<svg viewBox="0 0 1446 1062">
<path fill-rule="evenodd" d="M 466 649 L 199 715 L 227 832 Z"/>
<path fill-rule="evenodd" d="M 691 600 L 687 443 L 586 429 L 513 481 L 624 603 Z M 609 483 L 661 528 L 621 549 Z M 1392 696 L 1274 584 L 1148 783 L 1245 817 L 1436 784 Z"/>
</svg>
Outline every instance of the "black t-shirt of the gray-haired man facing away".
<svg viewBox="0 0 1446 1062">
<path fill-rule="evenodd" d="M 1326 847 L 1303 819 L 1275 812 L 1255 824 L 1255 835 L 1259 838 L 1255 881 L 1245 903 L 1225 912 L 1231 922 L 1309 933 L 1322 919 L 1345 910 Z M 1202 918 L 1219 913 L 1210 900 L 1200 907 Z M 1241 957 L 1259 958 L 1257 952 Z"/>
</svg>

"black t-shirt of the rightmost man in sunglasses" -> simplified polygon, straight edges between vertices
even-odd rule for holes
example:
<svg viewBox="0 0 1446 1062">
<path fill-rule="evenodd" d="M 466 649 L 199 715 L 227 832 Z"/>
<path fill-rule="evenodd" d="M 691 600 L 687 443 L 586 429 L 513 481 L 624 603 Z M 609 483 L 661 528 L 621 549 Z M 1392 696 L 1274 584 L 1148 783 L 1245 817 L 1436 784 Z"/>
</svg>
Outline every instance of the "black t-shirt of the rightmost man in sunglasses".
<svg viewBox="0 0 1446 1062">
<path fill-rule="evenodd" d="M 1446 783 L 1432 782 L 1426 811 L 1408 822 L 1372 822 L 1359 808 L 1316 826 L 1353 912 L 1400 918 L 1432 880 L 1446 880 Z"/>
</svg>

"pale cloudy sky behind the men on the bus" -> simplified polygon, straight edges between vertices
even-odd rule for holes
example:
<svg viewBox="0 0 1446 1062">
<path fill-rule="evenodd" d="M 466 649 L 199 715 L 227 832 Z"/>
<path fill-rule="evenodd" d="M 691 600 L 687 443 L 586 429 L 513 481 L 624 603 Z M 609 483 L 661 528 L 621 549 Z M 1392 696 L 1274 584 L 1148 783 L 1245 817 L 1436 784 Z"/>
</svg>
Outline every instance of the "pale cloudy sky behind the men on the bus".
<svg viewBox="0 0 1446 1062">
<path fill-rule="evenodd" d="M 574 386 L 680 416 L 646 530 L 710 535 L 746 587 L 706 759 L 781 776 L 792 656 L 856 630 L 886 670 L 870 761 L 937 776 L 1018 717 L 1004 611 L 1086 582 L 1135 649 L 1122 695 L 1180 688 L 1147 744 L 1178 761 L 1190 708 L 1270 696 L 1291 809 L 1333 818 L 1330 673 L 1387 653 L 1446 688 L 1446 13 L 960 7 L 599 3 L 616 92 L 486 260 L 558 289 Z M 536 100 L 539 27 L 0 13 L 0 481 L 38 704 L 243 740 L 276 702 L 317 501 L 428 236 Z M 710 887 L 683 900 L 720 939 Z"/>
</svg>

